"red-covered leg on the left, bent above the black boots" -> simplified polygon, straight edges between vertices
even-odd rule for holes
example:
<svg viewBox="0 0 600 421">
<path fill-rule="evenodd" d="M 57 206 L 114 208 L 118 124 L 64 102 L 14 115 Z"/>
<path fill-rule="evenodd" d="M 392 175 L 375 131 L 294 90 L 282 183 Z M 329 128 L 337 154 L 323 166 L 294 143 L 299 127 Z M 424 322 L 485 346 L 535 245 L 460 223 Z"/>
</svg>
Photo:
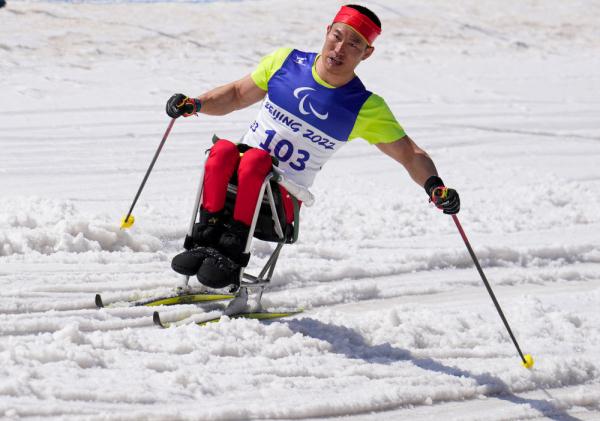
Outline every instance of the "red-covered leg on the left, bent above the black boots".
<svg viewBox="0 0 600 421">
<path fill-rule="evenodd" d="M 219 212 L 225 207 L 227 184 L 240 161 L 234 143 L 221 139 L 211 148 L 204 167 L 204 192 L 202 206 L 209 212 Z"/>
</svg>

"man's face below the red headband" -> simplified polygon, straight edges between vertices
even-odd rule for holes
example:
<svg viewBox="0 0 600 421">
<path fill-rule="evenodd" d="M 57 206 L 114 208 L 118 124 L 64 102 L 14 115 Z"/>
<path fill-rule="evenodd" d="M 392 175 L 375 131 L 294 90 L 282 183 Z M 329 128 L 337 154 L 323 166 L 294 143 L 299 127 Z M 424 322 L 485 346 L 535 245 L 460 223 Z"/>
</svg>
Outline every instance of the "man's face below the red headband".
<svg viewBox="0 0 600 421">
<path fill-rule="evenodd" d="M 334 23 L 327 27 L 325 44 L 321 51 L 323 64 L 333 74 L 351 74 L 362 60 L 367 59 L 374 48 L 343 23 Z"/>
</svg>

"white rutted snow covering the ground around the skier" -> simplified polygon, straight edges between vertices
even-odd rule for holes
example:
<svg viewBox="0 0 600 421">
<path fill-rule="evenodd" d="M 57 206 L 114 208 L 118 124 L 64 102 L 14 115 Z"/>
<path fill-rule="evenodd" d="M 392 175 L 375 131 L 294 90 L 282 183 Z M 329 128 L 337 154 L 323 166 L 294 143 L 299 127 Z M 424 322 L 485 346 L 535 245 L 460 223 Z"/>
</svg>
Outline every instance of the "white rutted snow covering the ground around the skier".
<svg viewBox="0 0 600 421">
<path fill-rule="evenodd" d="M 452 220 L 355 141 L 317 178 L 265 302 L 272 323 L 161 330 L 97 310 L 180 277 L 203 151 L 257 107 L 167 126 L 166 99 L 318 50 L 339 1 L 62 3 L 0 9 L 0 418 L 600 419 L 600 2 L 366 1 L 359 67 L 457 188 Z M 272 246 L 256 243 L 251 268 Z M 165 318 L 193 306 L 164 309 Z"/>
</svg>

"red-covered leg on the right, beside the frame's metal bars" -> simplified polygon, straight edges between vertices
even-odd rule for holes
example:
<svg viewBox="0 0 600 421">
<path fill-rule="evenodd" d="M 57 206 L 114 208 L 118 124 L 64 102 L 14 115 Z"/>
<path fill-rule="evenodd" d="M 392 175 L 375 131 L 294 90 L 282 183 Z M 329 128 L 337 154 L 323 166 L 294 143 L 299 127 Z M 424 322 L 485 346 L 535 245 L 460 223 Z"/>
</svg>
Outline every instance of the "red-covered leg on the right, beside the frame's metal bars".
<svg viewBox="0 0 600 421">
<path fill-rule="evenodd" d="M 249 149 L 244 153 L 238 168 L 238 193 L 233 219 L 246 225 L 252 224 L 260 186 L 271 171 L 271 155 L 262 149 Z"/>
</svg>

